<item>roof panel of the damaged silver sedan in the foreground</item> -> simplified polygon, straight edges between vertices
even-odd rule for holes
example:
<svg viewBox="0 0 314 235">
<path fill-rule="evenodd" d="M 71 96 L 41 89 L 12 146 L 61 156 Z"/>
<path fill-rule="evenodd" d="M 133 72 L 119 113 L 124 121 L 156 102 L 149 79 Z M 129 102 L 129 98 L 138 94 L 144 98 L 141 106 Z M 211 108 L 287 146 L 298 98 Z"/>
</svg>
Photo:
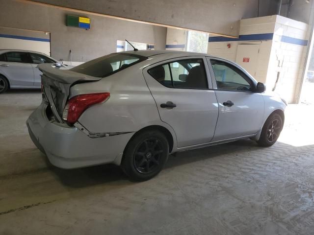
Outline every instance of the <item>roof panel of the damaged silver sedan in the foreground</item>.
<svg viewBox="0 0 314 235">
<path fill-rule="evenodd" d="M 188 51 L 180 51 L 180 50 L 129 50 L 122 51 L 120 53 L 128 53 L 133 55 L 140 55 L 145 57 L 151 57 L 160 54 L 167 54 L 169 57 L 171 56 L 209 56 L 204 53 L 196 53 L 196 52 L 188 52 Z"/>
</svg>

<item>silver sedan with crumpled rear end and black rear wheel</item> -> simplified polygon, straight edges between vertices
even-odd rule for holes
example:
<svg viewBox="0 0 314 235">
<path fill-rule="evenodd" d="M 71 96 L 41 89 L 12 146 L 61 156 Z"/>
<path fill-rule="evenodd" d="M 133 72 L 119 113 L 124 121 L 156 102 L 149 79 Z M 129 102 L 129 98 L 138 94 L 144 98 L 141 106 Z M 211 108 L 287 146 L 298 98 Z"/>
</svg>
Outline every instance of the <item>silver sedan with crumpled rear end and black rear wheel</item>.
<svg viewBox="0 0 314 235">
<path fill-rule="evenodd" d="M 113 163 L 148 180 L 169 154 L 244 138 L 270 146 L 284 124 L 284 100 L 206 54 L 128 51 L 71 70 L 39 69 L 44 98 L 26 123 L 61 168 Z"/>
</svg>

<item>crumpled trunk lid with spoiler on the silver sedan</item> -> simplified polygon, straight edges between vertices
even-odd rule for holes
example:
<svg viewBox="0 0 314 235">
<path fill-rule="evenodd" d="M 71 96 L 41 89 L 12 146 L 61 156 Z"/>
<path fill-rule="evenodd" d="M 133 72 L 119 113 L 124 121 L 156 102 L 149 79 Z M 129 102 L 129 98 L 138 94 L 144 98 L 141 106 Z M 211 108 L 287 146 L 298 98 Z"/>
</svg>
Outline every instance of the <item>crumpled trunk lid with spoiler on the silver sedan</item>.
<svg viewBox="0 0 314 235">
<path fill-rule="evenodd" d="M 62 67 L 61 67 L 62 68 Z M 101 77 L 93 77 L 70 70 L 62 70 L 52 64 L 40 64 L 38 69 L 43 72 L 43 92 L 51 106 L 54 118 L 63 122 L 62 113 L 70 94 L 70 87 L 77 83 L 99 81 Z"/>
</svg>

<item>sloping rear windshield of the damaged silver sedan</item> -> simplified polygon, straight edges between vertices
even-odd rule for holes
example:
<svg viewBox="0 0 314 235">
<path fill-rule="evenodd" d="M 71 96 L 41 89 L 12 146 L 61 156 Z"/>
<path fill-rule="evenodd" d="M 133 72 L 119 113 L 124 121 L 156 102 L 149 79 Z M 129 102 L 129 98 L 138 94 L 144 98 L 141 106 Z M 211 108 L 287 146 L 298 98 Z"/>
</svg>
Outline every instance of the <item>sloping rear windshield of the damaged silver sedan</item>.
<svg viewBox="0 0 314 235">
<path fill-rule="evenodd" d="M 146 59 L 147 57 L 140 55 L 113 53 L 88 61 L 74 67 L 71 71 L 83 73 L 93 77 L 106 77 Z"/>
</svg>

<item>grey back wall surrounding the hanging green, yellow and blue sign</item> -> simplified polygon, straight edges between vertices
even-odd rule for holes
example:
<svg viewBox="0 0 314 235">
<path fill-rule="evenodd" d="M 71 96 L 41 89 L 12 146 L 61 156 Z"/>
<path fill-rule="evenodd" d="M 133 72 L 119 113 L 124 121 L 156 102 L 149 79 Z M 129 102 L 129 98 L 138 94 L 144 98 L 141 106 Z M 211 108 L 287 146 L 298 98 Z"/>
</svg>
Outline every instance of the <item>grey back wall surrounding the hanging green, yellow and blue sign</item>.
<svg viewBox="0 0 314 235">
<path fill-rule="evenodd" d="M 0 26 L 51 32 L 51 55 L 53 58 L 85 62 L 99 56 L 116 52 L 117 40 L 156 44 L 165 48 L 166 28 L 150 24 L 111 19 L 102 16 L 76 14 L 15 0 L 0 0 Z M 79 15 L 91 19 L 90 30 L 67 27 L 66 15 Z M 154 33 L 155 31 L 155 33 Z"/>
</svg>

